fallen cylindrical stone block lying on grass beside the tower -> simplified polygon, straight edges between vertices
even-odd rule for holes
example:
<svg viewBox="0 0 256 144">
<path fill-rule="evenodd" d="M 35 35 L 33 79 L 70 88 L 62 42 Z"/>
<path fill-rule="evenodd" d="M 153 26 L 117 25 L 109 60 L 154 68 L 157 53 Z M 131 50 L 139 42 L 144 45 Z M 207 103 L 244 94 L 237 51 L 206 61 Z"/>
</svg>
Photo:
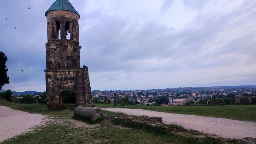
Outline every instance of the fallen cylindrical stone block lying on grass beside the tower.
<svg viewBox="0 0 256 144">
<path fill-rule="evenodd" d="M 96 121 L 97 119 L 103 118 L 103 113 L 100 108 L 78 106 L 74 110 L 74 116 Z"/>
</svg>

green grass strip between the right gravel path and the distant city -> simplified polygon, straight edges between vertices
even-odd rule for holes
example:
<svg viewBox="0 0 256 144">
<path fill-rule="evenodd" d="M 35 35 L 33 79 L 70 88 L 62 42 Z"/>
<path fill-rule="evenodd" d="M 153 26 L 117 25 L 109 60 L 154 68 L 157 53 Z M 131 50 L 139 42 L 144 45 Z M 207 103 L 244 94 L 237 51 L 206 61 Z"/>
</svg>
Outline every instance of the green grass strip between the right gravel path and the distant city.
<svg viewBox="0 0 256 144">
<path fill-rule="evenodd" d="M 101 108 L 122 108 L 121 105 L 114 107 L 113 104 L 95 104 Z M 227 105 L 227 106 L 132 106 L 125 108 L 143 109 L 150 111 L 192 114 L 197 116 L 210 116 L 219 118 L 236 119 L 241 121 L 256 122 L 256 105 Z"/>
</svg>

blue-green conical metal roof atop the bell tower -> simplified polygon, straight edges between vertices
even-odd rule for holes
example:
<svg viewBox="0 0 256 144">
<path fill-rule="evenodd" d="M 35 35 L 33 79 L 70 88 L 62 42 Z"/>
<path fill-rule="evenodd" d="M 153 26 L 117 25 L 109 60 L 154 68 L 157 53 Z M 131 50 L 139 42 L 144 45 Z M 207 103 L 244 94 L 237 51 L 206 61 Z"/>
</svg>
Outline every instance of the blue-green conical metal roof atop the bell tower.
<svg viewBox="0 0 256 144">
<path fill-rule="evenodd" d="M 50 6 L 50 8 L 46 11 L 46 15 L 48 12 L 54 11 L 54 10 L 71 11 L 71 12 L 78 14 L 78 12 L 75 10 L 75 8 L 71 5 L 71 3 L 68 0 L 56 0 L 53 3 L 53 5 Z M 78 14 L 78 16 L 80 18 L 79 14 Z"/>
</svg>

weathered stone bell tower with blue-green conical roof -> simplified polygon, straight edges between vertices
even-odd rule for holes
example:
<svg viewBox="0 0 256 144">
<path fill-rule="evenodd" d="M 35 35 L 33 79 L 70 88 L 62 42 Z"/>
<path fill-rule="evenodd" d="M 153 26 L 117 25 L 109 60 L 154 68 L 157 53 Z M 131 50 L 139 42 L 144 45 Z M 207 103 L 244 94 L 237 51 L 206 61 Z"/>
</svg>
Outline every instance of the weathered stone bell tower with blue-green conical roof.
<svg viewBox="0 0 256 144">
<path fill-rule="evenodd" d="M 80 15 L 68 0 L 56 0 L 45 16 L 47 107 L 61 109 L 62 93 L 66 90 L 74 92 L 76 106 L 91 103 L 88 68 L 80 68 Z"/>
</svg>

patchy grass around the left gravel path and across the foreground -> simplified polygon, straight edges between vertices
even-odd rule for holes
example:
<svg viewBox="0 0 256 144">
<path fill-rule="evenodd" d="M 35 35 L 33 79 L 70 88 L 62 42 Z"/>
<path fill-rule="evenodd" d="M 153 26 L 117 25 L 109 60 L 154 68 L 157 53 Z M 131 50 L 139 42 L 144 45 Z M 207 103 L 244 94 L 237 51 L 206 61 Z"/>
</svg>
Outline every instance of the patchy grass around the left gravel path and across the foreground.
<svg viewBox="0 0 256 144">
<path fill-rule="evenodd" d="M 36 104 L 18 104 L 12 102 L 0 103 L 15 110 L 27 111 L 48 115 L 52 121 L 37 130 L 23 133 L 14 138 L 7 139 L 2 144 L 222 144 L 220 139 L 208 136 L 194 138 L 182 134 L 155 134 L 146 130 L 127 129 L 115 127 L 108 121 L 101 121 L 98 128 L 74 127 L 68 122 L 72 118 L 73 110 L 54 111 L 42 108 Z M 45 107 L 45 106 L 44 106 Z M 112 112 L 110 114 L 113 115 Z"/>
</svg>

